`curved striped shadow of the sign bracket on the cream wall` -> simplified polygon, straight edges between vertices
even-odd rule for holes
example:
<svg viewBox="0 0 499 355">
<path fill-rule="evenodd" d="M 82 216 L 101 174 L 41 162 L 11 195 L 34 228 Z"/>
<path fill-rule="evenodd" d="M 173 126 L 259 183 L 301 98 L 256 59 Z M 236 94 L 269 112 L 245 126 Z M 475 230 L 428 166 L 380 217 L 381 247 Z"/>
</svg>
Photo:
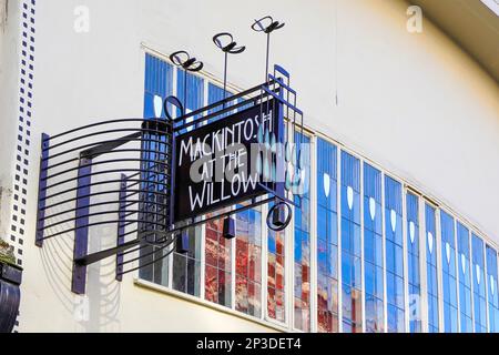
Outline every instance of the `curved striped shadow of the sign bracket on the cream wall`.
<svg viewBox="0 0 499 355">
<path fill-rule="evenodd" d="M 52 202 L 57 202 L 55 199 Z M 71 209 L 69 204 L 57 207 L 59 212 Z M 57 213 L 58 211 L 52 210 Z M 68 214 L 52 220 L 61 222 L 68 219 Z M 99 219 L 95 219 L 99 222 Z M 74 222 L 67 222 L 45 230 L 45 235 L 71 230 Z M 115 243 L 116 229 L 111 226 L 95 226 L 89 231 L 89 252 L 111 246 Z M 106 243 L 109 242 L 109 243 Z M 43 272 L 48 283 L 60 306 L 65 311 L 63 324 L 68 317 L 73 327 L 67 327 L 64 332 L 120 332 L 121 324 L 118 320 L 120 312 L 121 284 L 115 277 L 115 258 L 110 257 L 100 263 L 90 265 L 86 274 L 86 294 L 77 295 L 71 292 L 72 263 L 73 263 L 74 232 L 68 232 L 47 240 L 40 248 Z M 43 291 L 47 292 L 47 291 Z M 51 315 L 53 316 L 53 315 Z M 43 331 L 43 329 L 41 329 Z"/>
</svg>

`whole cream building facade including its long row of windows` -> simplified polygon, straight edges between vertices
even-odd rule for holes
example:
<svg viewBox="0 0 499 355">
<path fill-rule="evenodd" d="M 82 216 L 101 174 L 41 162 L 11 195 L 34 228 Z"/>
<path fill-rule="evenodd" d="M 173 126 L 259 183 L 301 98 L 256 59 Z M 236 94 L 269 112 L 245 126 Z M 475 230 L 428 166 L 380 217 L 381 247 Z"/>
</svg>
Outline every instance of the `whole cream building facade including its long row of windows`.
<svg viewBox="0 0 499 355">
<path fill-rule="evenodd" d="M 0 231 L 23 268 L 16 331 L 499 331 L 498 77 L 427 1 L 0 4 Z M 499 28 L 485 3 L 468 11 Z M 184 92 L 191 111 L 222 100 L 217 32 L 247 48 L 230 58 L 227 94 L 263 82 L 265 38 L 249 27 L 266 14 L 286 22 L 271 62 L 291 73 L 306 125 L 295 140 L 309 144 L 291 225 L 269 231 L 262 205 L 226 240 L 214 220 L 190 230 L 186 254 L 136 261 L 121 282 L 110 257 L 71 292 L 74 233 L 34 244 L 42 133 L 164 116 L 156 98 Z M 497 33 L 482 39 L 495 53 Z M 186 88 L 177 50 L 204 62 Z M 90 250 L 115 235 L 95 227 Z"/>
</svg>

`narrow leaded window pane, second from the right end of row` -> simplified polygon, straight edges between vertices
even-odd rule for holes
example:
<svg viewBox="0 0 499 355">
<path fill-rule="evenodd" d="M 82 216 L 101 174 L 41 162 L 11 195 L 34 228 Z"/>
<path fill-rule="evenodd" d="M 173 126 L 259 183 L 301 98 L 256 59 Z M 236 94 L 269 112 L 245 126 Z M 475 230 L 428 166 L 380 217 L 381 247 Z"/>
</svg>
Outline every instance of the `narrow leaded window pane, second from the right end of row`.
<svg viewBox="0 0 499 355">
<path fill-rule="evenodd" d="M 487 301 L 483 261 L 483 241 L 471 234 L 471 253 L 473 262 L 473 315 L 475 333 L 487 332 Z"/>
</svg>

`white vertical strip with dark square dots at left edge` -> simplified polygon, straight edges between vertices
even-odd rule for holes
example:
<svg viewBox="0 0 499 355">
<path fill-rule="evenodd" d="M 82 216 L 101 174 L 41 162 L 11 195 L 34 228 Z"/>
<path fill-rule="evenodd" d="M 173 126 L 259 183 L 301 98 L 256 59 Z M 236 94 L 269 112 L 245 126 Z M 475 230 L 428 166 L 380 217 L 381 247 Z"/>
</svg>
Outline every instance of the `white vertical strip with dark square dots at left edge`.
<svg viewBox="0 0 499 355">
<path fill-rule="evenodd" d="M 35 4 L 35 0 L 24 0 L 21 2 L 18 136 L 16 143 L 12 220 L 10 224 L 10 243 L 14 247 L 14 254 L 19 266 L 22 266 L 22 248 L 26 236 L 28 170 L 33 109 Z M 16 322 L 16 328 L 18 326 L 19 322 Z M 14 332 L 17 332 L 16 328 Z"/>
</svg>

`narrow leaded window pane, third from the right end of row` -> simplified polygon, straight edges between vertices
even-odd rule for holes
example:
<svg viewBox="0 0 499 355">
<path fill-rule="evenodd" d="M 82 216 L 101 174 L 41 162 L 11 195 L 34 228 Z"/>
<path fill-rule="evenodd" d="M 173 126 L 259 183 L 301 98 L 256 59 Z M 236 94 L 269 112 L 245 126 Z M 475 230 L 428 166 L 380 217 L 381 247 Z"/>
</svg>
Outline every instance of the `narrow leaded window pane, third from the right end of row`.
<svg viewBox="0 0 499 355">
<path fill-rule="evenodd" d="M 459 312 L 461 333 L 472 333 L 471 263 L 469 254 L 469 230 L 457 223 L 459 264 Z"/>
</svg>

